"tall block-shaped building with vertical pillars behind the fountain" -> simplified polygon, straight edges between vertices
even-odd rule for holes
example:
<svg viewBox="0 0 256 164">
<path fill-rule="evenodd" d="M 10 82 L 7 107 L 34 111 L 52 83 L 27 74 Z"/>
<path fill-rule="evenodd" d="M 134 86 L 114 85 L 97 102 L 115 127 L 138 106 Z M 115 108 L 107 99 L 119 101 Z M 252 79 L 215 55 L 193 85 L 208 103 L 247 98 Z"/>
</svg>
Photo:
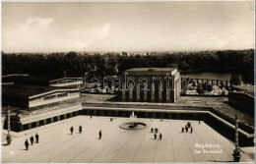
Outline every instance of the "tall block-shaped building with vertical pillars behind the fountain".
<svg viewBox="0 0 256 164">
<path fill-rule="evenodd" d="M 133 68 L 122 76 L 118 97 L 126 102 L 175 102 L 181 79 L 176 68 Z"/>
</svg>

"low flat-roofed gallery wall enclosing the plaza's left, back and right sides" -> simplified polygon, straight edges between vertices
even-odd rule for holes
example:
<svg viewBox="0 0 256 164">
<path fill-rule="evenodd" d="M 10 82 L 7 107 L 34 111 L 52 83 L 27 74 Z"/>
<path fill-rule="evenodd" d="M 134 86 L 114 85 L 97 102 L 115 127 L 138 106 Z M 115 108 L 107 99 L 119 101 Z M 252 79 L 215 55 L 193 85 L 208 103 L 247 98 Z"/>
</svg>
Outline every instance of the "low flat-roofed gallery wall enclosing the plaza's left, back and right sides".
<svg viewBox="0 0 256 164">
<path fill-rule="evenodd" d="M 232 120 L 225 120 L 214 113 L 211 107 L 194 106 L 160 106 L 160 105 L 133 105 L 125 104 L 73 104 L 60 106 L 49 112 L 42 112 L 35 116 L 21 118 L 19 122 L 11 122 L 12 131 L 21 132 L 61 121 L 78 115 L 126 117 L 129 118 L 131 112 L 135 112 L 138 118 L 157 118 L 171 120 L 201 120 L 215 129 L 224 137 L 234 141 L 234 124 Z M 6 121 L 5 121 L 6 122 Z M 239 144 L 254 145 L 254 133 L 241 129 L 239 124 Z"/>
</svg>

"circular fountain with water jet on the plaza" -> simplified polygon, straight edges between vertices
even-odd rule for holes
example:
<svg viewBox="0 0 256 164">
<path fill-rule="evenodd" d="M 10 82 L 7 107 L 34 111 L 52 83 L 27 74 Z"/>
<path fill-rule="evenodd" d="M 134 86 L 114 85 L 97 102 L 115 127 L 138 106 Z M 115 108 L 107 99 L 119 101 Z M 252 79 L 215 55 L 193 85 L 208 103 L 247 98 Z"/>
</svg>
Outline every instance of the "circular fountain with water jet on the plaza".
<svg viewBox="0 0 256 164">
<path fill-rule="evenodd" d="M 147 128 L 147 125 L 145 123 L 138 122 L 137 116 L 132 112 L 130 115 L 130 122 L 123 123 L 119 127 L 124 130 L 143 130 Z"/>
</svg>

